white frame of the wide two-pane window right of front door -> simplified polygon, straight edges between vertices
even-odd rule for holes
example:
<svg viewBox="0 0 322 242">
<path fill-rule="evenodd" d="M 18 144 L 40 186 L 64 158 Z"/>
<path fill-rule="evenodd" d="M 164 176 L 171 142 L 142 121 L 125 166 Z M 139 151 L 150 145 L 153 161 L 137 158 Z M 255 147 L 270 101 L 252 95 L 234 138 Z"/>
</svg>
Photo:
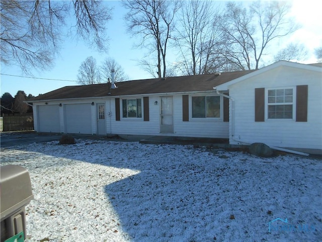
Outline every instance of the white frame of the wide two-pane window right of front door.
<svg viewBox="0 0 322 242">
<path fill-rule="evenodd" d="M 193 117 L 193 97 L 205 97 L 205 117 Z M 219 117 L 207 117 L 207 109 L 206 109 L 206 103 L 207 103 L 207 97 L 219 97 Z M 195 121 L 221 121 L 223 120 L 223 98 L 220 95 L 208 93 L 208 94 L 193 94 L 189 95 L 189 118 L 190 120 Z"/>
</svg>

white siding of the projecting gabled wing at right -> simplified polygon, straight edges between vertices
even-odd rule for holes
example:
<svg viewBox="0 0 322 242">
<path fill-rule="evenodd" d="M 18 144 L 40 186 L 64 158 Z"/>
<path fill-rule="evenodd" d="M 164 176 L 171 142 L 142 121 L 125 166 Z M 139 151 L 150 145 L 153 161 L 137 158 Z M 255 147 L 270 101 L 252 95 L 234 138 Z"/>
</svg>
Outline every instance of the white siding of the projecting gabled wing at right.
<svg viewBox="0 0 322 242">
<path fill-rule="evenodd" d="M 308 85 L 307 122 L 296 122 L 295 113 L 293 119 L 255 122 L 255 88 L 288 89 L 290 84 Z M 230 122 L 230 144 L 262 142 L 276 147 L 322 149 L 321 90 L 320 73 L 291 67 L 278 67 L 231 85 L 229 96 L 234 99 L 234 108 L 230 106 L 230 117 L 234 120 Z M 293 89 L 293 106 L 295 103 Z"/>
</svg>

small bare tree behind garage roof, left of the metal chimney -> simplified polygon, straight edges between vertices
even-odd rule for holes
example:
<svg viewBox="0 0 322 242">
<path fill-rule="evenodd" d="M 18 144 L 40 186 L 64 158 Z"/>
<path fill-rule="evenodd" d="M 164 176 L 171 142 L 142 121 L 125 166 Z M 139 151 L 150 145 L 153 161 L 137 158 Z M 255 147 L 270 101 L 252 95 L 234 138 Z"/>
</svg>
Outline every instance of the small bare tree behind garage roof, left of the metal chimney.
<svg viewBox="0 0 322 242">
<path fill-rule="evenodd" d="M 100 72 L 93 56 L 87 57 L 78 68 L 77 81 L 81 85 L 90 85 L 101 82 Z"/>
</svg>

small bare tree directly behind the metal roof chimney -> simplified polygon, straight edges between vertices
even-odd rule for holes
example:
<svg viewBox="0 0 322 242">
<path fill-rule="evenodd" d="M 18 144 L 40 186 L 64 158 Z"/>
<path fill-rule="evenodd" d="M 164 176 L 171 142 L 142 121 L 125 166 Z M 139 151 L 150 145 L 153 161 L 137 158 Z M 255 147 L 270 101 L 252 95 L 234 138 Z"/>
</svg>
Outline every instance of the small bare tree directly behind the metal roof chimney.
<svg viewBox="0 0 322 242">
<path fill-rule="evenodd" d="M 117 64 L 115 59 L 109 57 L 106 58 L 101 66 L 102 78 L 104 81 L 111 79 L 112 70 L 114 70 L 114 80 L 115 82 L 123 82 L 128 79 L 128 76 L 124 73 L 123 68 Z"/>
</svg>

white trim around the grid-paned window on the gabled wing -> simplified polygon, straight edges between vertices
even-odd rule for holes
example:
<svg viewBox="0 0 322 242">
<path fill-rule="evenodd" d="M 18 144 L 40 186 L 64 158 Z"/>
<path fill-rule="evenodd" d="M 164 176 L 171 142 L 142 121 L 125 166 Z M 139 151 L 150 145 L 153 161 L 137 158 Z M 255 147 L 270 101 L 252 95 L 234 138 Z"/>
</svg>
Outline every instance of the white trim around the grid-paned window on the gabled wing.
<svg viewBox="0 0 322 242">
<path fill-rule="evenodd" d="M 284 103 L 268 103 L 268 91 L 269 90 L 278 90 L 278 89 L 293 89 L 293 102 L 284 102 Z M 269 105 L 293 105 L 293 110 L 292 118 L 268 118 L 268 106 Z M 294 121 L 295 122 L 295 117 L 296 117 L 296 87 L 295 86 L 287 86 L 287 87 L 270 87 L 270 88 L 265 88 L 265 121 L 268 122 L 289 122 L 289 121 Z"/>
</svg>

